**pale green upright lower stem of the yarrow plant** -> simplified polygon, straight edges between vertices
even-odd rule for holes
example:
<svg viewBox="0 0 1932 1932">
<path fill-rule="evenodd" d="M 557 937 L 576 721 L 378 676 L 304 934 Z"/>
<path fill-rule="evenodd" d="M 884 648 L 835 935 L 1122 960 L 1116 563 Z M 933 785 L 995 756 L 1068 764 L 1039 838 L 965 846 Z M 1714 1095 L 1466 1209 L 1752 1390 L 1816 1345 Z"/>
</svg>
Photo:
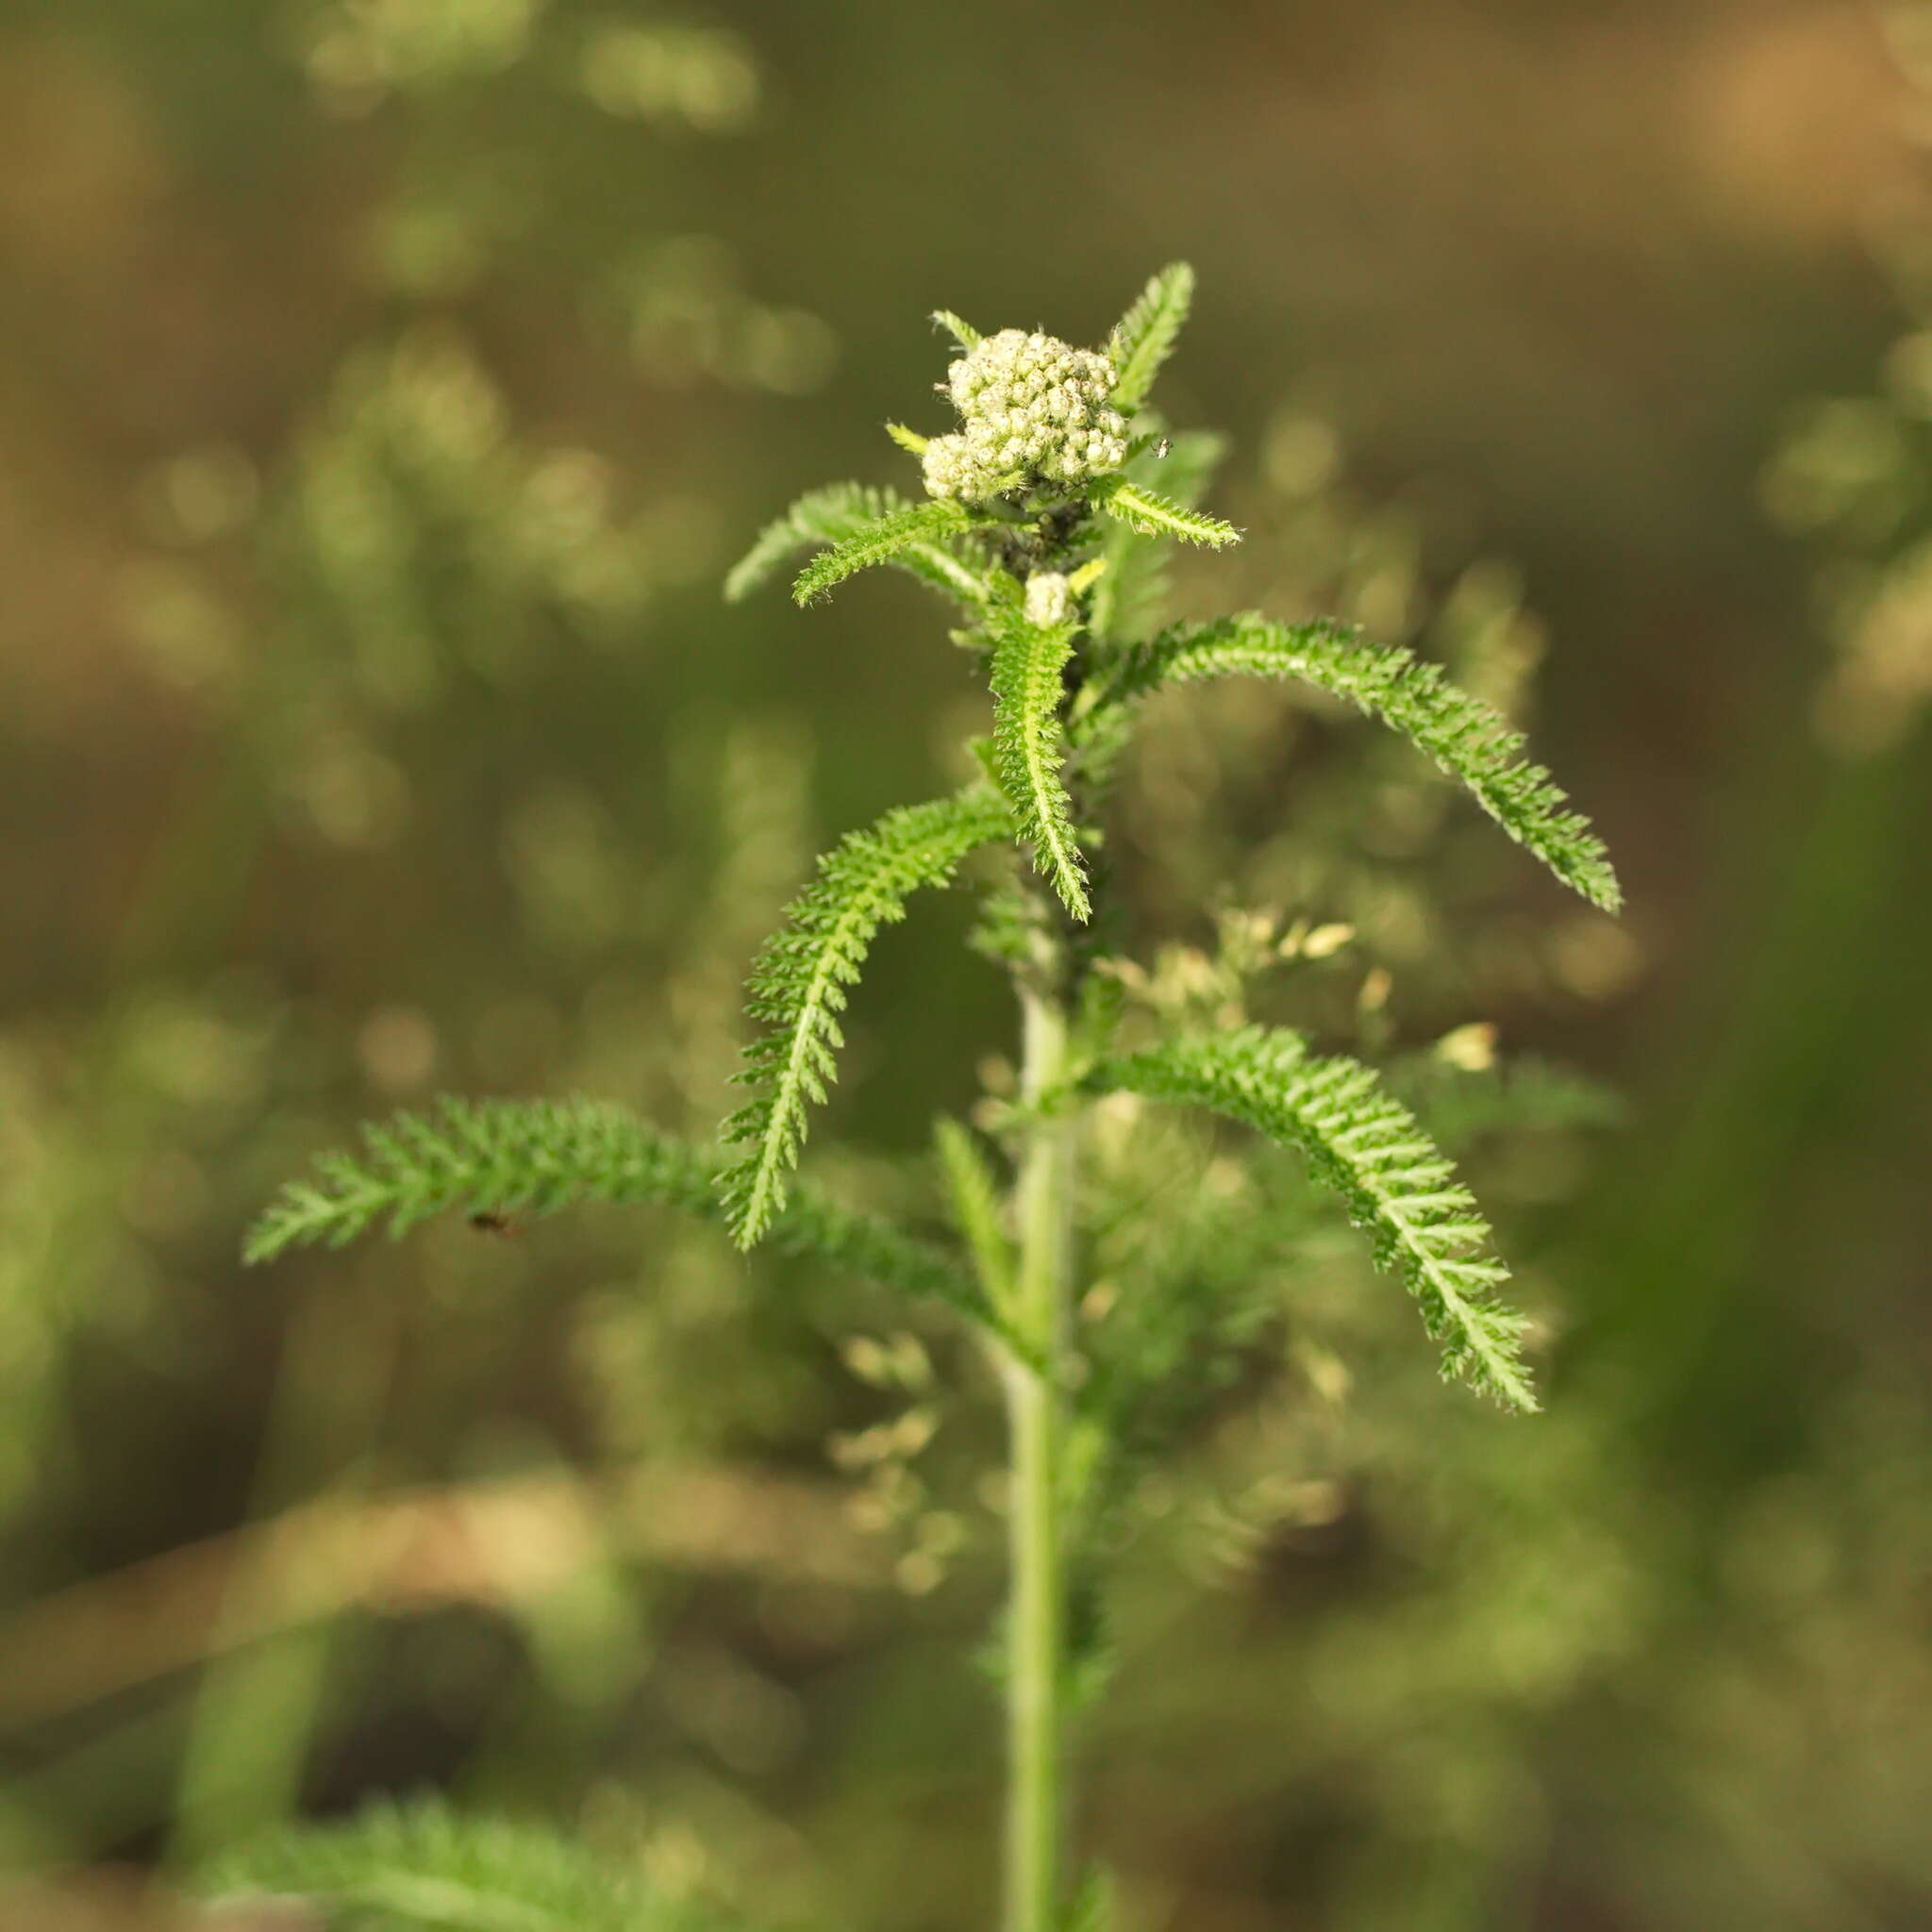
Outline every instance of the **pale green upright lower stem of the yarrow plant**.
<svg viewBox="0 0 1932 1932">
<path fill-rule="evenodd" d="M 1022 1097 L 1037 1105 L 1066 1072 L 1066 1012 L 1022 989 Z M 1072 1306 L 1074 1163 L 1070 1113 L 1034 1117 L 1020 1161 L 1020 1269 L 1014 1320 L 1043 1370 L 1009 1358 L 1012 1577 L 1007 1634 L 1007 1932 L 1057 1932 L 1065 1835 L 1066 1536 L 1061 1464 L 1063 1366 Z"/>
</svg>

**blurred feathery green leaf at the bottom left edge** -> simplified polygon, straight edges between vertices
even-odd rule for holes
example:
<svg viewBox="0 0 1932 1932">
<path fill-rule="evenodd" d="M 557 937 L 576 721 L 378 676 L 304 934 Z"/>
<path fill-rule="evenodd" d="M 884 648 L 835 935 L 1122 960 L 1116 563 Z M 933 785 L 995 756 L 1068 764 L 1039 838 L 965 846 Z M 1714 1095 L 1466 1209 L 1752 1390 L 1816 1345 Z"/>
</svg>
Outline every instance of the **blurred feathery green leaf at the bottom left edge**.
<svg viewBox="0 0 1932 1932">
<path fill-rule="evenodd" d="M 230 1853 L 199 1889 L 299 1899 L 330 1932 L 715 1932 L 558 1830 L 466 1818 L 440 1801 L 379 1803 Z"/>
</svg>

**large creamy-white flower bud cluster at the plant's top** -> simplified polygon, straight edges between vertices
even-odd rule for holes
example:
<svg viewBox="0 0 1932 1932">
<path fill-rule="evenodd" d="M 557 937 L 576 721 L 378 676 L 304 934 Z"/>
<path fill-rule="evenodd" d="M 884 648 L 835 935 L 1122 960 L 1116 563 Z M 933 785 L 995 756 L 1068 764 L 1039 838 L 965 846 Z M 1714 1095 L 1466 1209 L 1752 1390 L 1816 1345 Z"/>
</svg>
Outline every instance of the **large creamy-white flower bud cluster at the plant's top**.
<svg viewBox="0 0 1932 1932">
<path fill-rule="evenodd" d="M 983 502 L 1034 481 L 1084 483 L 1126 462 L 1126 421 L 1107 406 L 1105 355 L 1003 328 L 952 363 L 962 429 L 925 446 L 933 497 Z"/>
</svg>

